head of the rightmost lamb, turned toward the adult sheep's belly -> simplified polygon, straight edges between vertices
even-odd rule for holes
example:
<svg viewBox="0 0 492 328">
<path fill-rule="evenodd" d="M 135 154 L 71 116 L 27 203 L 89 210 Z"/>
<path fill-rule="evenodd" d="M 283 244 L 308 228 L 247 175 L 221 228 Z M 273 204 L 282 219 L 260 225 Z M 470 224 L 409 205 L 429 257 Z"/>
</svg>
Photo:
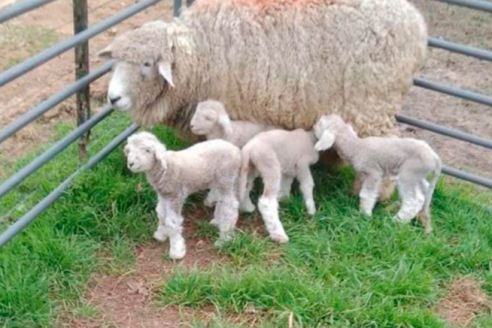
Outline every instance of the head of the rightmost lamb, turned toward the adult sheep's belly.
<svg viewBox="0 0 492 328">
<path fill-rule="evenodd" d="M 354 128 L 336 114 L 321 116 L 314 125 L 313 131 L 318 139 L 314 146 L 317 151 L 331 148 L 340 133 L 347 132 L 350 136 L 357 137 Z"/>
</svg>

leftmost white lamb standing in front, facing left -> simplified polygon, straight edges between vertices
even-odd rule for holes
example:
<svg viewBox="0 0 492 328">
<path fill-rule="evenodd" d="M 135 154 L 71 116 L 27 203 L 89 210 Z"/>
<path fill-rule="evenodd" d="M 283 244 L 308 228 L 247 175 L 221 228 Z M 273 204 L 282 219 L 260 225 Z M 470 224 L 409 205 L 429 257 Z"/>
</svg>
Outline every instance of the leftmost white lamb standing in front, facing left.
<svg viewBox="0 0 492 328">
<path fill-rule="evenodd" d="M 220 234 L 217 244 L 234 233 L 239 203 L 236 180 L 241 166 L 239 148 L 223 140 L 198 143 L 182 151 L 168 151 L 151 133 L 140 132 L 128 138 L 124 148 L 128 168 L 145 172 L 157 192 L 159 225 L 154 238 L 169 238 L 169 256 L 182 259 L 186 254 L 181 214 L 186 198 L 195 192 L 213 188 L 217 195 L 214 219 Z"/>
</svg>

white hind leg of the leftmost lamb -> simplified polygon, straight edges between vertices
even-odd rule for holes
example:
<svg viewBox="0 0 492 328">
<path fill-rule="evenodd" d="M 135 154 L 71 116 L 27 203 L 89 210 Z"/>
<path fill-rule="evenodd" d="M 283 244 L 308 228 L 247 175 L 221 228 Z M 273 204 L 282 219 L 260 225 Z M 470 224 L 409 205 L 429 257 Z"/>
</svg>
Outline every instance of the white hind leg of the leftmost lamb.
<svg viewBox="0 0 492 328">
<path fill-rule="evenodd" d="M 219 239 L 215 243 L 221 246 L 224 242 L 231 240 L 234 236 L 234 228 L 238 219 L 239 202 L 237 201 L 234 191 L 231 190 L 222 196 L 215 207 L 214 220 L 218 222 Z"/>
</svg>

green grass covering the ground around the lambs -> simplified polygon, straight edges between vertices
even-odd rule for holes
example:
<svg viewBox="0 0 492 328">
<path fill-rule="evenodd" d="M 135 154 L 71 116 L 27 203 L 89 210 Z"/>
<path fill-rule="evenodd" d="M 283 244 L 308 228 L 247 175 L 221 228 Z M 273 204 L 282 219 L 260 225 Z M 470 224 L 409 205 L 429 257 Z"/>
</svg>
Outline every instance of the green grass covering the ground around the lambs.
<svg viewBox="0 0 492 328">
<path fill-rule="evenodd" d="M 128 124 L 125 116 L 110 116 L 93 131 L 90 153 Z M 71 128 L 59 126 L 57 133 Z M 170 148 L 186 145 L 169 130 L 156 132 Z M 70 147 L 2 199 L 0 229 L 66 178 L 79 165 L 76 154 Z M 472 275 L 492 293 L 489 192 L 441 182 L 433 202 L 435 232 L 424 236 L 419 225 L 393 223 L 394 213 L 384 206 L 372 219 L 361 216 L 357 199 L 348 196 L 351 170 L 317 167 L 314 175 L 315 217 L 306 215 L 297 192 L 281 206 L 288 244 L 245 228 L 217 250 L 227 261 L 209 268 L 178 265 L 156 304 L 216 309 L 216 317 L 198 316 L 192 327 L 249 327 L 230 317 L 251 317 L 251 309 L 255 327 L 262 328 L 287 327 L 291 314 L 296 327 L 446 327 L 433 308 L 450 279 Z M 193 197 L 192 206 L 201 200 Z M 0 251 L 0 327 L 52 327 L 67 314 L 97 317 L 97 308 L 84 303 L 90 277 L 132 270 L 135 245 L 151 240 L 154 208 L 153 191 L 144 176 L 129 173 L 121 149 L 77 179 Z M 198 223 L 193 238 L 212 242 L 215 236 L 208 223 Z M 474 327 L 491 322 L 484 314 Z"/>
</svg>

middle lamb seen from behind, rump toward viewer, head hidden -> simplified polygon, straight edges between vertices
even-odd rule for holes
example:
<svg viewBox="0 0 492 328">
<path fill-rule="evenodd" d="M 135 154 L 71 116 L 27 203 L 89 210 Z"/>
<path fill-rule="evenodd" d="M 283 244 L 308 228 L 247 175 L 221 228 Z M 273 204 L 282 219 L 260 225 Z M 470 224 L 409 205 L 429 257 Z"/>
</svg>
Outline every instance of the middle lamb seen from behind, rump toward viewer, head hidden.
<svg viewBox="0 0 492 328">
<path fill-rule="evenodd" d="M 279 219 L 278 199 L 290 192 L 294 179 L 299 181 L 308 214 L 314 215 L 316 212 L 314 181 L 309 168 L 319 159 L 315 143 L 316 137 L 312 131 L 271 130 L 258 134 L 241 150 L 239 198 L 244 199 L 249 194 L 252 180 L 259 174 L 264 188 L 258 209 L 270 238 L 278 243 L 289 241 Z"/>
</svg>

